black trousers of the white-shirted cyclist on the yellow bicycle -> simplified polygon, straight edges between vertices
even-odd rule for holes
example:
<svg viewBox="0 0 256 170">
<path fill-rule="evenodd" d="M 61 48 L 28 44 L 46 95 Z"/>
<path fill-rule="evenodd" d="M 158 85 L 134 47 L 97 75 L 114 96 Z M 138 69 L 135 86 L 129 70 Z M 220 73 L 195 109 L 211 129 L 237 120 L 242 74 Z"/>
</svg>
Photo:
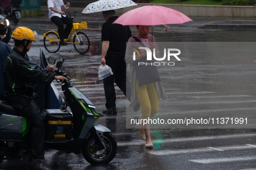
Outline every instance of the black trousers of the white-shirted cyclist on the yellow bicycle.
<svg viewBox="0 0 256 170">
<path fill-rule="evenodd" d="M 58 16 L 53 16 L 51 18 L 51 21 L 58 26 L 58 35 L 60 40 L 63 41 L 64 39 L 67 39 L 73 27 L 73 20 L 67 16 L 66 17 L 62 16 L 62 18 Z M 63 24 L 66 24 L 65 29 Z"/>
</svg>

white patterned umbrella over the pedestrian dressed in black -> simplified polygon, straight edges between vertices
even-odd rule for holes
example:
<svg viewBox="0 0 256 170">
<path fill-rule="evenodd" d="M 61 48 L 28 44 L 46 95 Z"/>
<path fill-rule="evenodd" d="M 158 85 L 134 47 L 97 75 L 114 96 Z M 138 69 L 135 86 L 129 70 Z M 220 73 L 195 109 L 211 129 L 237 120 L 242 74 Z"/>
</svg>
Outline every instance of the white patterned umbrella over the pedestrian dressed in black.
<svg viewBox="0 0 256 170">
<path fill-rule="evenodd" d="M 132 0 L 98 0 L 87 5 L 82 13 L 97 13 L 101 11 L 109 11 L 135 5 L 137 4 Z"/>
</svg>

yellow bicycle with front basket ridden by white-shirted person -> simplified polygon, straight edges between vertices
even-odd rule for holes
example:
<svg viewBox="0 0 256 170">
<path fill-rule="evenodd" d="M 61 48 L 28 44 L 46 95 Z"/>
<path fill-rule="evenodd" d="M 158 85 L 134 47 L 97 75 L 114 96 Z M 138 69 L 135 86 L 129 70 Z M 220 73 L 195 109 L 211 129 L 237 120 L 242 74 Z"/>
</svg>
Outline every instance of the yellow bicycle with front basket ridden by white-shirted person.
<svg viewBox="0 0 256 170">
<path fill-rule="evenodd" d="M 75 13 L 77 13 L 77 11 L 74 11 L 73 13 L 74 13 L 74 16 L 70 17 L 71 19 L 75 18 Z M 66 13 L 66 14 L 69 14 L 69 13 Z M 73 23 L 73 28 L 70 32 L 68 39 L 64 39 L 64 41 L 66 42 L 70 41 L 73 33 L 75 32 L 75 35 L 73 37 L 73 45 L 75 47 L 75 50 L 80 54 L 87 53 L 90 47 L 90 41 L 87 35 L 84 32 L 79 31 L 80 29 L 84 29 L 84 28 L 87 28 L 87 22 Z M 60 42 L 60 38 L 59 38 L 58 32 L 48 31 L 44 34 L 44 46 L 49 53 L 56 53 L 60 49 L 61 46 L 59 45 L 59 42 Z"/>
</svg>

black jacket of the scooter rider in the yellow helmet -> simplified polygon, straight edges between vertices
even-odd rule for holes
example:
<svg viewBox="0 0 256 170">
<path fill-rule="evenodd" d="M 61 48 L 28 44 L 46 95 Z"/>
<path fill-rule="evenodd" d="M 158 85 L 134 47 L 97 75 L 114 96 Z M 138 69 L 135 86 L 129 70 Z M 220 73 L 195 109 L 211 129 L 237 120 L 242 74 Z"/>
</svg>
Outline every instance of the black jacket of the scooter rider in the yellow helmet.
<svg viewBox="0 0 256 170">
<path fill-rule="evenodd" d="M 13 48 L 5 63 L 4 88 L 6 100 L 12 105 L 31 102 L 32 88 L 29 82 L 40 84 L 51 83 L 55 76 L 31 67 L 24 59 L 25 54 Z"/>
</svg>

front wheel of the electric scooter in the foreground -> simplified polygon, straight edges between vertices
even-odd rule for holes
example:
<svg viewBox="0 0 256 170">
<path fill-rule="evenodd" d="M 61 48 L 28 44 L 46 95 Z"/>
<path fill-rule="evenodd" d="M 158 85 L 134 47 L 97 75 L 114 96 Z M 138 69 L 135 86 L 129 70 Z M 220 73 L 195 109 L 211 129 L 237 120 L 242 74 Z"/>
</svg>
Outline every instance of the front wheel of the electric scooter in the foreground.
<svg viewBox="0 0 256 170">
<path fill-rule="evenodd" d="M 100 149 L 95 137 L 91 135 L 82 145 L 81 150 L 84 159 L 90 164 L 107 164 L 117 154 L 117 141 L 110 133 L 104 133 L 104 140 L 101 141 L 104 149 Z"/>
</svg>

